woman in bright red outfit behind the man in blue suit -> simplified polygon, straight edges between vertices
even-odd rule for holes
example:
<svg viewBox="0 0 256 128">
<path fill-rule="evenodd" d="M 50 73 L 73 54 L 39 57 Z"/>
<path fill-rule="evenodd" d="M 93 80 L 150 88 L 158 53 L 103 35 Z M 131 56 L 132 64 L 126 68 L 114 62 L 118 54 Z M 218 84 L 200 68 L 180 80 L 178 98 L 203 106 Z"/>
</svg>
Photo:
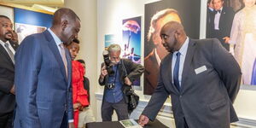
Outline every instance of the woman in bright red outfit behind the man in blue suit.
<svg viewBox="0 0 256 128">
<path fill-rule="evenodd" d="M 79 40 L 67 46 L 72 58 L 72 87 L 73 87 L 73 124 L 78 128 L 79 110 L 89 105 L 87 90 L 84 90 L 84 67 L 79 61 L 74 61 L 79 53 Z"/>
</svg>

